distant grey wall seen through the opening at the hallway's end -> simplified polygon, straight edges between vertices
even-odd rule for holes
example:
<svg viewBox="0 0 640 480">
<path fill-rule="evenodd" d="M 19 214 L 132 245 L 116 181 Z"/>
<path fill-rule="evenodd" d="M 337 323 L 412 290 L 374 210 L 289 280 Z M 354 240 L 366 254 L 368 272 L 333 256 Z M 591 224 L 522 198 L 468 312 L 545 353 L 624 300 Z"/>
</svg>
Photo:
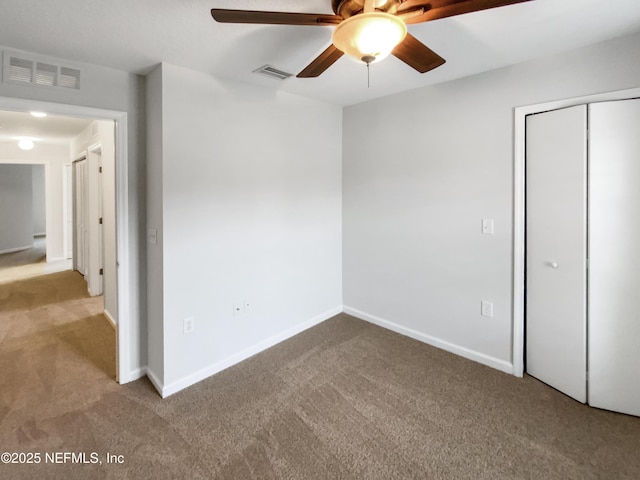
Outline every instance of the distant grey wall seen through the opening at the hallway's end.
<svg viewBox="0 0 640 480">
<path fill-rule="evenodd" d="M 33 246 L 30 165 L 0 165 L 0 253 Z"/>
</svg>

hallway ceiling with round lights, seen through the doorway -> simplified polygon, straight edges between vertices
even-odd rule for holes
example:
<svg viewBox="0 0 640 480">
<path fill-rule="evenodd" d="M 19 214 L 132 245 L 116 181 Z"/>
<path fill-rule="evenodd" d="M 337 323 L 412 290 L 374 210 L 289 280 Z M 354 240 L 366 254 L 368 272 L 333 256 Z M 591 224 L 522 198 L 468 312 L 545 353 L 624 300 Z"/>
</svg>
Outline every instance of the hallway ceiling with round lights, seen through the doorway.
<svg viewBox="0 0 640 480">
<path fill-rule="evenodd" d="M 36 144 L 68 144 L 78 136 L 91 120 L 48 116 L 35 118 L 28 112 L 0 111 L 0 143 L 17 142 L 18 137 L 29 137 Z"/>
</svg>

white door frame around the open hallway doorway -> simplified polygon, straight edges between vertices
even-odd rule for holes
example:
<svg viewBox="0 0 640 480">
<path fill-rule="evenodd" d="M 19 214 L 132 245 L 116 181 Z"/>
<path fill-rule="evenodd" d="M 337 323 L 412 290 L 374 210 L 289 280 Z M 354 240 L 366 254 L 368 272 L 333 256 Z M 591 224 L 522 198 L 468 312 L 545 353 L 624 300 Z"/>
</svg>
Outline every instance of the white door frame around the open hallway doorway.
<svg viewBox="0 0 640 480">
<path fill-rule="evenodd" d="M 115 210 L 116 210 L 116 296 L 118 325 L 116 329 L 116 381 L 127 383 L 141 376 L 131 358 L 131 339 L 139 336 L 132 331 L 137 322 L 132 319 L 132 296 L 135 285 L 128 245 L 129 174 L 128 174 L 128 118 L 126 112 L 102 108 L 52 103 L 33 99 L 0 97 L 0 110 L 28 112 L 43 110 L 51 115 L 110 120 L 115 130 Z"/>
</svg>

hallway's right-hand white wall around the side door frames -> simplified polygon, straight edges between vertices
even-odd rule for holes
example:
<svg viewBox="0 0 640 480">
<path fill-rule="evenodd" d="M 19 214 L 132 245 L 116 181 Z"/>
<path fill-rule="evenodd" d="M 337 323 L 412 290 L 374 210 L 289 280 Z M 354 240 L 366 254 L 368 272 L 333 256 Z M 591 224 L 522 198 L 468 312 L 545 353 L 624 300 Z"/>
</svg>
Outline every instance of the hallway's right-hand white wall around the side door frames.
<svg viewBox="0 0 640 480">
<path fill-rule="evenodd" d="M 90 253 L 104 255 L 103 295 L 104 309 L 114 322 L 118 322 L 117 278 L 116 278 L 116 177 L 115 177 L 115 136 L 113 121 L 96 120 L 71 141 L 69 161 L 87 155 L 89 149 L 101 150 L 102 174 L 102 252 Z M 91 195 L 91 193 L 90 193 Z M 97 231 L 95 232 L 97 235 Z M 91 233 L 90 233 L 91 235 Z M 91 235 L 93 237 L 93 235 Z M 97 239 L 95 239 L 97 241 Z M 95 243 L 95 242 L 94 242 Z M 90 245 L 93 246 L 94 243 Z M 90 248 L 91 248 L 90 246 Z"/>
</svg>

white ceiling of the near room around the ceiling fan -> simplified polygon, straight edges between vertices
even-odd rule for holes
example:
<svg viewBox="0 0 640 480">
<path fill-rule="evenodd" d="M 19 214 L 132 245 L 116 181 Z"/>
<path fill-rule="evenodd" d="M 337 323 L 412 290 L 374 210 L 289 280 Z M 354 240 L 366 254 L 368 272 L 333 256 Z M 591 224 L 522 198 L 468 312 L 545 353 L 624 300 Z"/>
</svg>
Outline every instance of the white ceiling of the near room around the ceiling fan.
<svg viewBox="0 0 640 480">
<path fill-rule="evenodd" d="M 330 0 L 0 0 L 0 45 L 144 74 L 160 61 L 339 105 L 473 75 L 640 31 L 638 0 L 534 0 L 410 25 L 447 60 L 419 74 L 396 58 L 366 68 L 343 57 L 317 79 L 298 73 L 332 27 L 219 24 L 210 9 L 331 13 Z"/>
</svg>

